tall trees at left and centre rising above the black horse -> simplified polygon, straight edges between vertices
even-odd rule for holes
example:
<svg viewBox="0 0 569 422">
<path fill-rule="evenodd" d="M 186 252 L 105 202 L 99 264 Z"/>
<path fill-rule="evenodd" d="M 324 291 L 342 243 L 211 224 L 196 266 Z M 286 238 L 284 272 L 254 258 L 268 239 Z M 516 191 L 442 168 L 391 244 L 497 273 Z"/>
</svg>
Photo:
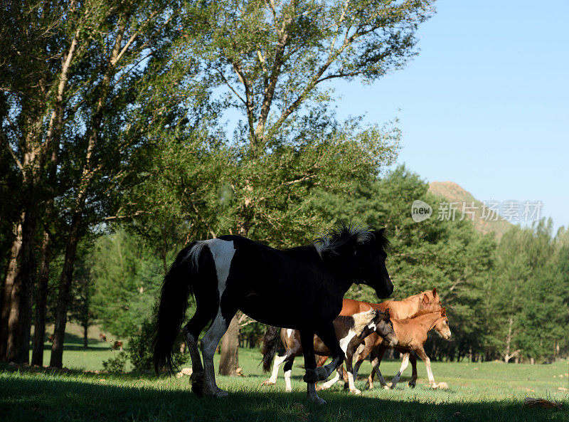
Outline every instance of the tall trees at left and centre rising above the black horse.
<svg viewBox="0 0 569 422">
<path fill-rule="evenodd" d="M 190 238 L 287 246 L 323 227 L 313 192 L 373 180 L 398 145 L 395 127 L 337 120 L 329 81 L 403 67 L 432 3 L 6 4 L 0 358 L 28 362 L 34 325 L 42 364 L 49 310 L 50 365 L 61 366 L 79 246 L 112 223 L 137 232 L 164 271 Z M 228 110 L 242 116 L 235 130 Z"/>
</svg>

